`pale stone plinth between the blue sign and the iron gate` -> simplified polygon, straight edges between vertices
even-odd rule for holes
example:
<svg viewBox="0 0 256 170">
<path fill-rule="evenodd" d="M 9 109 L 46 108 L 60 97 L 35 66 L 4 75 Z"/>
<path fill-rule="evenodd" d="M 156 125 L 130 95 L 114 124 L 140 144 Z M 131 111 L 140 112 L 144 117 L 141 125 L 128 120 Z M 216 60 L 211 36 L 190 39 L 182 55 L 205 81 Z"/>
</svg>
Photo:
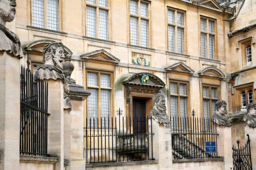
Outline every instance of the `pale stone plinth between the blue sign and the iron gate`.
<svg viewBox="0 0 256 170">
<path fill-rule="evenodd" d="M 218 156 L 224 157 L 223 170 L 231 170 L 233 169 L 231 127 L 216 124 L 216 130 L 219 134 L 217 139 Z"/>
</svg>

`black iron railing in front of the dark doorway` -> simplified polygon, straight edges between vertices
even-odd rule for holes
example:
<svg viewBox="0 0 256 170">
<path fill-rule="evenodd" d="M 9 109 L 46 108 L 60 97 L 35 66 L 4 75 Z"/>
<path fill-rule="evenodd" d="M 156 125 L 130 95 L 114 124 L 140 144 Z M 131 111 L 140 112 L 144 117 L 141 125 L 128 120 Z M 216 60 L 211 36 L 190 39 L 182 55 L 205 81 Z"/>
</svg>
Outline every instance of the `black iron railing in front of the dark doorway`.
<svg viewBox="0 0 256 170">
<path fill-rule="evenodd" d="M 152 129 L 148 128 L 149 119 L 143 119 L 145 123 L 127 117 L 86 119 L 86 163 L 153 160 Z"/>
</svg>

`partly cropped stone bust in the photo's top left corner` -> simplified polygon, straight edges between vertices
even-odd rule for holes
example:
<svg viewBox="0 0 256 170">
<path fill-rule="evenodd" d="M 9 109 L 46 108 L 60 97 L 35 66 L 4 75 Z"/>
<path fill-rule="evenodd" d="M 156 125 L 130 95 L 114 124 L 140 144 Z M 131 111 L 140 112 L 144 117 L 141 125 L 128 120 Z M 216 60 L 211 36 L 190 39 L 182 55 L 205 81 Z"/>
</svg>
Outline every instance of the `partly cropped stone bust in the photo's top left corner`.
<svg viewBox="0 0 256 170">
<path fill-rule="evenodd" d="M 0 51 L 8 51 L 19 58 L 23 52 L 18 36 L 5 27 L 6 22 L 12 22 L 16 14 L 15 0 L 0 0 Z"/>
</svg>

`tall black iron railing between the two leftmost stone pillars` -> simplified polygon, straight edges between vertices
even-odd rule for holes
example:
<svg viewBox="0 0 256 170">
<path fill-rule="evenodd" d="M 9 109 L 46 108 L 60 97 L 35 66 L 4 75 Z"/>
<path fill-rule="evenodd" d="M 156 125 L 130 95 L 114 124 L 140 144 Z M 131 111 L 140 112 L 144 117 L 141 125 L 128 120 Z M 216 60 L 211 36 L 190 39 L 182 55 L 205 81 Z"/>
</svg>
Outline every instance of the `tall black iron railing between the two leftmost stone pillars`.
<svg viewBox="0 0 256 170">
<path fill-rule="evenodd" d="M 29 69 L 20 74 L 20 154 L 47 154 L 48 84 Z"/>
</svg>

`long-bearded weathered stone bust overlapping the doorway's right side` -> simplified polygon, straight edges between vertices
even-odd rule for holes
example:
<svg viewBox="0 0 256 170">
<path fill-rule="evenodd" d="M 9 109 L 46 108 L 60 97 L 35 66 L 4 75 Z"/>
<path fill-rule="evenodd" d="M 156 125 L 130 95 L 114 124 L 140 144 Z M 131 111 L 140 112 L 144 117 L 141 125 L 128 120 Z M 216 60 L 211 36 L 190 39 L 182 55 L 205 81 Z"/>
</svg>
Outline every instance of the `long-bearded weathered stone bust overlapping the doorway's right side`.
<svg viewBox="0 0 256 170">
<path fill-rule="evenodd" d="M 159 124 L 170 123 L 166 114 L 165 97 L 158 93 L 153 98 L 153 109 L 149 113 L 149 117 L 154 118 Z"/>
</svg>

